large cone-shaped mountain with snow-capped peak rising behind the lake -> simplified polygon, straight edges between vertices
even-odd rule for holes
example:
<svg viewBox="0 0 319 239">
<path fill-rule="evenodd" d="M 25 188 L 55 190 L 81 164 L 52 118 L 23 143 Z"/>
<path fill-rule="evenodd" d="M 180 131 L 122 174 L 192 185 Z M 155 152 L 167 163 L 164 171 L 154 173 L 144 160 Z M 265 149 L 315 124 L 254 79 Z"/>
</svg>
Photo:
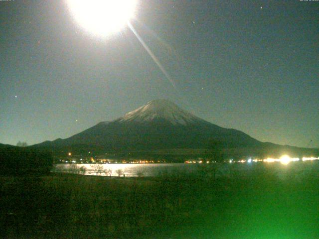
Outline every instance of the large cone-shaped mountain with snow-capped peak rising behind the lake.
<svg viewBox="0 0 319 239">
<path fill-rule="evenodd" d="M 222 142 L 223 147 L 230 151 L 229 155 L 233 155 L 231 152 L 248 154 L 261 149 L 264 151 L 265 147 L 278 151 L 280 147 L 285 147 L 260 142 L 236 129 L 220 127 L 167 100 L 151 101 L 119 119 L 103 121 L 69 138 L 45 141 L 33 147 L 45 147 L 55 152 L 72 150 L 78 153 L 154 152 L 206 150 L 216 141 Z"/>
</svg>

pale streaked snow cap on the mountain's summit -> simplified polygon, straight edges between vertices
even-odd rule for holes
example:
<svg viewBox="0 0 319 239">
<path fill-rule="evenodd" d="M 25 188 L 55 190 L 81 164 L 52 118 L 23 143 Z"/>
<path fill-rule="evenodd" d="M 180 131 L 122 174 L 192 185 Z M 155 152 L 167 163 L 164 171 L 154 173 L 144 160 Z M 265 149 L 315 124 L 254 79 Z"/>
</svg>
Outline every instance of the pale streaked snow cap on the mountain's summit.
<svg viewBox="0 0 319 239">
<path fill-rule="evenodd" d="M 149 122 L 155 119 L 164 119 L 170 123 L 183 124 L 194 123 L 202 121 L 194 115 L 181 110 L 174 103 L 167 100 L 154 100 L 147 103 L 135 111 L 127 113 L 124 117 L 118 119 L 119 121 L 136 121 Z"/>
</svg>

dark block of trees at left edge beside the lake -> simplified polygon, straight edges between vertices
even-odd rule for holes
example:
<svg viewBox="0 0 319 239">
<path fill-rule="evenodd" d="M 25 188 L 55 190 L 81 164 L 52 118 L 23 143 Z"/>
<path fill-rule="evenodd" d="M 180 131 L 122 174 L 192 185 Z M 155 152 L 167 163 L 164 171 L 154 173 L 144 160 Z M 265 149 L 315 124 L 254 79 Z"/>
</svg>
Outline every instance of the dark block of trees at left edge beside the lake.
<svg viewBox="0 0 319 239">
<path fill-rule="evenodd" d="M 0 175 L 46 175 L 53 165 L 50 152 L 26 147 L 0 148 Z"/>
</svg>

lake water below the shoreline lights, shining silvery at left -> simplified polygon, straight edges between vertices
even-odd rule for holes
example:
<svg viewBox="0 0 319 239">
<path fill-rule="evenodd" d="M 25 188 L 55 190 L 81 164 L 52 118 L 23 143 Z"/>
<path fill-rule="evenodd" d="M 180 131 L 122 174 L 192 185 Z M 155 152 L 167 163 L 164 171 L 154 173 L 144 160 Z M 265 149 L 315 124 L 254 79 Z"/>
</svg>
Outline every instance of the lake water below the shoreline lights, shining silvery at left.
<svg viewBox="0 0 319 239">
<path fill-rule="evenodd" d="M 54 165 L 53 172 L 68 172 L 75 173 L 76 168 L 84 167 L 86 175 L 96 175 L 94 167 L 99 165 L 102 167 L 103 172 L 99 175 L 108 176 L 104 172 L 110 170 L 111 176 L 118 176 L 117 170 L 121 169 L 121 176 L 136 177 L 139 173 L 143 176 L 160 176 L 160 175 L 172 175 L 172 174 L 190 174 L 196 173 L 203 166 L 202 164 L 186 164 L 186 163 L 145 163 L 145 164 L 131 164 L 131 163 L 118 163 L 118 164 L 56 164 Z M 224 164 L 218 170 L 218 175 L 230 175 L 230 172 L 239 172 L 240 174 L 249 174 L 254 170 L 260 170 L 266 168 L 277 174 L 279 178 L 285 178 L 287 175 L 294 173 L 296 175 L 303 176 L 309 172 L 319 172 L 319 162 L 291 162 L 288 165 L 282 165 L 281 163 L 228 163 Z"/>
</svg>

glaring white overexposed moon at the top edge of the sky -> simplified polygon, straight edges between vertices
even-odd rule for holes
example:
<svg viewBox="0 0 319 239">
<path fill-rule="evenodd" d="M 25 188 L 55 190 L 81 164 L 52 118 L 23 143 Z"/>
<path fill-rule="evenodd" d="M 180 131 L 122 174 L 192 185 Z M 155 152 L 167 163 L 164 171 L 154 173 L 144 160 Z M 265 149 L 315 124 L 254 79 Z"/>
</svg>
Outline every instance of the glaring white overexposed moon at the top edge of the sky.
<svg viewBox="0 0 319 239">
<path fill-rule="evenodd" d="M 108 36 L 134 16 L 137 0 L 67 0 L 75 20 L 94 35 Z"/>
</svg>

